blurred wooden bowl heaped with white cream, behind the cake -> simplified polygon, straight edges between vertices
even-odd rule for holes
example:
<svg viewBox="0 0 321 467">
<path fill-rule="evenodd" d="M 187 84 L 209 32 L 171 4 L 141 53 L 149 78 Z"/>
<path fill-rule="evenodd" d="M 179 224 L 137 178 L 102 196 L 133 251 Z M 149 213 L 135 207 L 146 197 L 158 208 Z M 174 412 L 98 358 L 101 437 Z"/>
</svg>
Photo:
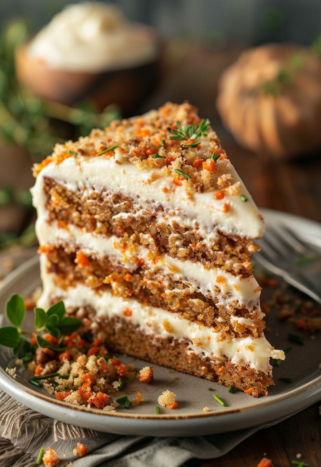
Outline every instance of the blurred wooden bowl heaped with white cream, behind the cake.
<svg viewBox="0 0 321 467">
<path fill-rule="evenodd" d="M 16 51 L 18 80 L 38 97 L 66 105 L 91 98 L 125 115 L 154 89 L 161 62 L 151 28 L 100 3 L 68 6 Z"/>
</svg>

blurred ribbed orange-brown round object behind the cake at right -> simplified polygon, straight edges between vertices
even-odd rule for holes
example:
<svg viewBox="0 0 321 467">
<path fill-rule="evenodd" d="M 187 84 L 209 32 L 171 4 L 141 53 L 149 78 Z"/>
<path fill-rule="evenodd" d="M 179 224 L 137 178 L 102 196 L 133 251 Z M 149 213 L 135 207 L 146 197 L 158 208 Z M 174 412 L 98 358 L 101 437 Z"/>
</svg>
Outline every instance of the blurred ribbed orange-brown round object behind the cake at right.
<svg viewBox="0 0 321 467">
<path fill-rule="evenodd" d="M 290 44 L 247 50 L 223 73 L 217 107 L 237 142 L 259 155 L 312 152 L 321 147 L 321 60 Z"/>
</svg>

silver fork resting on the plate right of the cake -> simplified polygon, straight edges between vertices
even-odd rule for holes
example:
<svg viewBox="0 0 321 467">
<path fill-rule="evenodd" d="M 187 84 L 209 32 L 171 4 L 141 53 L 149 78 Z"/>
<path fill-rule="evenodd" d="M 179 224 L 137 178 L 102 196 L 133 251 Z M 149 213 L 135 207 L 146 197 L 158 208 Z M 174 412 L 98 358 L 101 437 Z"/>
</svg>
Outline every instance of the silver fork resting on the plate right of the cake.
<svg viewBox="0 0 321 467">
<path fill-rule="evenodd" d="M 321 253 L 283 224 L 268 226 L 254 259 L 321 304 Z"/>
</svg>

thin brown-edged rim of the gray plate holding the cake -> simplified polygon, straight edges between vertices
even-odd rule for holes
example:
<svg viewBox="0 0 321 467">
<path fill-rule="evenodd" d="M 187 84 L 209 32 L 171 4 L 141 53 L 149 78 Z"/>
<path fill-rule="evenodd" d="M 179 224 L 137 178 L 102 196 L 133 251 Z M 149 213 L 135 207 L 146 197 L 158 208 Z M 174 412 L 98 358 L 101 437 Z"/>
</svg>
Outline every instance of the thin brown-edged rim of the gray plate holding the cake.
<svg viewBox="0 0 321 467">
<path fill-rule="evenodd" d="M 276 211 L 276 210 L 273 210 L 273 209 L 261 209 L 261 212 L 263 213 L 263 216 L 266 215 L 267 217 L 270 217 L 270 216 L 280 216 L 282 215 L 283 217 L 285 216 L 286 218 L 288 219 L 291 219 L 292 221 L 299 221 L 299 222 L 303 222 L 305 225 L 308 223 L 310 224 L 311 226 L 313 225 L 313 227 L 315 227 L 316 229 L 319 229 L 321 230 L 321 224 L 314 221 L 314 220 L 311 220 L 311 219 L 306 219 L 304 217 L 301 217 L 301 216 L 296 216 L 294 214 L 290 214 L 290 213 L 286 213 L 286 212 L 282 212 L 282 211 Z M 26 261 L 25 263 L 23 263 L 22 265 L 20 265 L 18 268 L 16 268 L 12 273 L 10 273 L 5 279 L 4 281 L 2 282 L 1 286 L 0 286 L 0 295 L 1 296 L 4 296 L 6 295 L 6 292 L 8 289 L 10 289 L 11 285 L 12 285 L 12 282 L 15 280 L 15 281 L 18 281 L 19 280 L 19 277 L 22 277 L 24 276 L 30 269 L 34 268 L 39 262 L 39 258 L 38 256 L 35 256 L 31 259 L 29 259 L 28 261 Z M 134 423 L 137 422 L 138 420 L 141 420 L 141 421 L 171 421 L 171 420 L 176 420 L 177 422 L 178 421 L 183 421 L 183 422 L 187 422 L 188 420 L 189 421 L 192 421 L 193 420 L 209 420 L 209 419 L 213 419 L 213 417 L 215 417 L 215 420 L 220 420 L 222 419 L 223 421 L 223 424 L 224 424 L 224 420 L 226 420 L 228 417 L 230 416 L 235 416 L 235 415 L 239 415 L 239 416 L 243 416 L 244 418 L 244 414 L 248 414 L 250 415 L 249 418 L 251 418 L 251 416 L 253 417 L 253 413 L 254 412 L 257 412 L 259 413 L 259 411 L 267 411 L 269 410 L 270 407 L 273 407 L 273 410 L 271 410 L 270 412 L 270 416 L 268 416 L 268 413 L 266 412 L 266 417 L 265 417 L 265 421 L 271 421 L 273 419 L 275 419 L 275 415 L 272 415 L 272 413 L 274 413 L 275 411 L 277 411 L 277 413 L 284 413 L 284 406 L 287 407 L 286 409 L 286 412 L 287 412 L 287 415 L 293 413 L 293 411 L 295 410 L 301 410 L 301 409 L 304 409 L 306 408 L 308 405 L 316 402 L 320 395 L 321 395 L 321 375 L 320 376 L 316 376 L 315 378 L 313 378 L 311 381 L 308 381 L 307 383 L 304 383 L 302 385 L 300 385 L 299 387 L 296 387 L 296 388 L 293 388 L 287 392 L 284 392 L 282 394 L 278 394 L 278 395 L 275 395 L 273 397 L 271 397 L 271 399 L 263 399 L 259 405 L 257 404 L 249 404 L 249 405 L 244 405 L 244 406 L 241 406 L 241 407 L 236 407 L 236 408 L 233 408 L 232 406 L 231 407 L 226 407 L 226 408 L 222 408 L 222 409 L 218 409 L 218 410 L 214 410 L 214 411 L 209 411 L 209 412 L 195 412 L 195 413 L 185 413 L 185 414 L 177 414 L 177 415 L 171 415 L 171 414 L 159 414 L 159 415 L 156 415 L 156 414 L 134 414 L 134 413 L 124 413 L 124 412 L 107 412 L 107 411 L 103 411 L 101 409 L 96 409 L 96 408 L 88 408 L 88 407 L 84 407 L 84 406 L 77 406 L 77 405 L 73 405 L 73 404 L 70 404 L 68 402 L 64 402 L 64 401 L 59 401 L 57 399 L 53 399 L 49 394 L 48 396 L 46 394 L 43 394 L 43 393 L 40 393 L 32 388 L 29 388 L 28 386 L 24 385 L 23 383 L 13 379 L 6 371 L 3 367 L 0 366 L 0 387 L 9 395 L 11 395 L 12 397 L 16 398 L 16 400 L 18 400 L 19 402 L 25 404 L 25 405 L 28 405 L 28 403 L 30 404 L 29 402 L 29 397 L 31 397 L 35 403 L 32 403 L 32 407 L 31 408 L 34 408 L 35 405 L 37 405 L 37 401 L 40 403 L 41 405 L 41 408 L 44 404 L 48 404 L 49 403 L 49 406 L 48 407 L 48 410 L 45 410 L 43 408 L 42 410 L 42 413 L 45 413 L 46 415 L 48 415 L 48 411 L 50 412 L 51 409 L 54 409 L 54 408 L 57 408 L 59 407 L 60 409 L 62 409 L 63 411 L 63 415 L 65 414 L 66 415 L 66 412 L 69 414 L 69 415 L 79 415 L 79 414 L 83 414 L 84 417 L 88 417 L 88 416 L 91 416 L 91 417 L 94 417 L 95 419 L 100 419 L 100 420 L 103 420 L 103 419 L 106 419 L 106 416 L 109 417 L 109 419 L 118 419 L 119 421 L 121 420 L 127 420 L 127 421 L 133 421 Z M 302 394 L 304 394 L 304 398 L 302 399 Z M 17 397 L 16 397 L 17 396 Z M 27 397 L 27 403 L 26 403 L 26 398 Z M 282 403 L 284 403 L 284 401 L 286 401 L 286 404 L 283 405 L 283 410 L 282 410 Z M 306 401 L 306 403 L 304 403 Z M 300 405 L 299 405 L 299 408 L 296 407 L 296 404 L 300 402 Z M 30 405 L 28 405 L 30 406 Z M 278 410 L 279 409 L 279 410 Z M 35 409 L 37 410 L 37 409 Z M 55 414 L 55 415 L 58 415 Z M 76 416 L 77 416 L 76 415 Z M 51 416 L 51 415 L 49 415 Z M 62 415 L 61 415 L 62 416 Z M 59 419 L 59 416 L 56 417 Z M 62 420 L 64 421 L 64 420 Z M 82 420 L 78 420 L 78 422 L 81 422 L 80 424 L 83 424 L 85 423 L 85 421 L 82 421 Z M 87 425 L 88 423 L 85 423 L 85 425 Z M 122 424 L 122 423 L 120 423 Z M 85 426 L 83 425 L 83 426 Z M 243 423 L 243 426 L 244 426 L 244 423 Z M 249 426 L 253 426 L 253 423 Z M 109 428 L 109 431 L 110 431 L 110 427 Z M 200 433 L 198 433 L 200 434 Z"/>
</svg>

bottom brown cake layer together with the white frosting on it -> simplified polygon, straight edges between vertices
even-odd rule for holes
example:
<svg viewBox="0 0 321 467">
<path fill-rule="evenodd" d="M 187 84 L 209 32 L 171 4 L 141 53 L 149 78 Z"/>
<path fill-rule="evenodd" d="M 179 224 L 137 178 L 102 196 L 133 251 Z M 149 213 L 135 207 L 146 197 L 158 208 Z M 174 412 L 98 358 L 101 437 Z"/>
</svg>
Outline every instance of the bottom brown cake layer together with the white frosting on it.
<svg viewBox="0 0 321 467">
<path fill-rule="evenodd" d="M 49 282 L 47 278 L 39 306 L 63 299 L 69 313 L 77 312 L 88 330 L 104 333 L 112 350 L 137 358 L 213 381 L 219 378 L 227 385 L 233 384 L 234 377 L 238 383 L 233 387 L 254 387 L 263 394 L 272 384 L 269 358 L 283 356 L 264 336 L 224 337 L 178 314 L 114 297 L 108 291 L 97 293 L 83 285 L 63 290 Z M 247 374 L 252 378 L 250 386 Z"/>
</svg>

